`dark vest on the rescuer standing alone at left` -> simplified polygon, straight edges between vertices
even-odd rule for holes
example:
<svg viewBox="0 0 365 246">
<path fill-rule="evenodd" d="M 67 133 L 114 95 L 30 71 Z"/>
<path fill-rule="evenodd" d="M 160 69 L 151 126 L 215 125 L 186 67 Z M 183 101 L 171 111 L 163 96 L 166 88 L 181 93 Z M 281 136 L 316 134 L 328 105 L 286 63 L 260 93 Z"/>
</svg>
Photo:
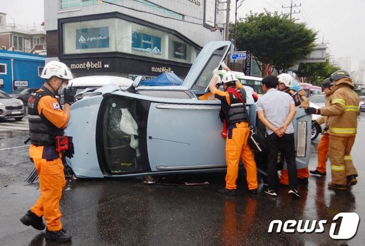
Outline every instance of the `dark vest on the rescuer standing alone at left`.
<svg viewBox="0 0 365 246">
<path fill-rule="evenodd" d="M 56 136 L 63 136 L 64 131 L 52 124 L 42 112 L 39 114 L 38 103 L 43 96 L 57 99 L 47 88 L 44 91 L 31 93 L 28 99 L 29 136 L 31 143 L 35 146 L 55 146 Z M 57 101 L 61 105 L 58 99 Z"/>
</svg>

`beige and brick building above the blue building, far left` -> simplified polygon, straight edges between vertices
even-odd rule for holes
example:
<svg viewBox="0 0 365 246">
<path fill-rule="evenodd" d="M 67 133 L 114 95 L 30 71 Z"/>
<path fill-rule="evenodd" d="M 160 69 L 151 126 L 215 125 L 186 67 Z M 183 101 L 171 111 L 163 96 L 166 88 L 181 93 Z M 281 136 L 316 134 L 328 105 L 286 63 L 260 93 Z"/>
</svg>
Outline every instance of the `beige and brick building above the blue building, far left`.
<svg viewBox="0 0 365 246">
<path fill-rule="evenodd" d="M 6 13 L 0 13 L 0 49 L 46 54 L 46 31 L 43 25 L 7 23 Z"/>
</svg>

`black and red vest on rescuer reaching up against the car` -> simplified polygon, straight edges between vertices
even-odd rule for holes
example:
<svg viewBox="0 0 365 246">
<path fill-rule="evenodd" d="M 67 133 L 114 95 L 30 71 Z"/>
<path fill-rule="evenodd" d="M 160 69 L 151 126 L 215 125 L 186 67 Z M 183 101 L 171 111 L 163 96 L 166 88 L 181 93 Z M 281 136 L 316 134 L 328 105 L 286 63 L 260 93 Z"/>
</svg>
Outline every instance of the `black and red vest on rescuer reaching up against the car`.
<svg viewBox="0 0 365 246">
<path fill-rule="evenodd" d="M 221 107 L 221 115 L 226 120 L 227 127 L 231 124 L 239 122 L 248 122 L 246 103 L 243 98 L 246 98 L 244 89 L 228 88 L 226 90 L 230 96 L 229 108 Z"/>
</svg>

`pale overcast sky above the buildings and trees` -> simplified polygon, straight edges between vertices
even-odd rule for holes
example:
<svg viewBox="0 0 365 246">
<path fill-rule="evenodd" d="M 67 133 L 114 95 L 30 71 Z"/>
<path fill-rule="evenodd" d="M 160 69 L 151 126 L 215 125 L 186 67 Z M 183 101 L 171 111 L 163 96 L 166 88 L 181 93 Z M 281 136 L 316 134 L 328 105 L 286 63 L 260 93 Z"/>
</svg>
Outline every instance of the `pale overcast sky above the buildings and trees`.
<svg viewBox="0 0 365 246">
<path fill-rule="evenodd" d="M 169 0 L 166 0 L 169 1 Z M 188 1 L 188 0 L 187 0 Z M 201 0 L 203 2 L 204 0 Z M 231 22 L 234 22 L 234 3 L 231 0 Z M 31 4 L 30 4 L 31 3 Z M 365 28 L 364 0 L 293 0 L 294 4 L 302 4 L 294 10 L 300 14 L 293 17 L 308 23 L 308 27 L 318 30 L 318 42 L 329 43 L 329 52 L 335 58 L 351 57 L 352 70 L 358 69 L 358 60 L 365 59 L 363 40 Z M 281 6 L 289 6 L 290 0 L 244 0 L 238 10 L 238 16 L 244 17 L 252 12 L 278 11 L 288 13 L 289 9 Z M 7 22 L 13 19 L 19 24 L 40 24 L 44 21 L 43 0 L 0 0 L 0 12 L 7 13 Z"/>
</svg>

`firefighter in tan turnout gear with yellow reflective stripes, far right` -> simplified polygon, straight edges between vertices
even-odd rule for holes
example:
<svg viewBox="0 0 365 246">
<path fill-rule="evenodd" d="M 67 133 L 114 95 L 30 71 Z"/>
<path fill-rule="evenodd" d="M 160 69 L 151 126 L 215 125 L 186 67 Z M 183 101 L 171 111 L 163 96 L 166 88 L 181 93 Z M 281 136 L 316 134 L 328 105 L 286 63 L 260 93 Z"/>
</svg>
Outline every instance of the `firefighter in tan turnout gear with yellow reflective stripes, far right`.
<svg viewBox="0 0 365 246">
<path fill-rule="evenodd" d="M 355 142 L 359 97 L 345 70 L 331 75 L 335 88 L 331 91 L 330 106 L 321 109 L 307 108 L 307 114 L 328 116 L 332 181 L 331 189 L 346 190 L 357 183 L 357 171 L 352 163 L 351 149 Z"/>
</svg>

